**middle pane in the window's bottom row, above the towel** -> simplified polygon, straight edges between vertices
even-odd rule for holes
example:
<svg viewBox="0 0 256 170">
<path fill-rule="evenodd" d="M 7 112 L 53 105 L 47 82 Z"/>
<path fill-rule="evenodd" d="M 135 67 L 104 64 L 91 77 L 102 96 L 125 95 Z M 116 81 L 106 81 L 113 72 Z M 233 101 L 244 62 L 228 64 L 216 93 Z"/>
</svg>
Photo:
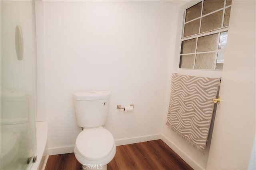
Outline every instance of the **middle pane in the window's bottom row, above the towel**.
<svg viewBox="0 0 256 170">
<path fill-rule="evenodd" d="M 195 69 L 214 69 L 215 53 L 196 54 Z"/>
</svg>

